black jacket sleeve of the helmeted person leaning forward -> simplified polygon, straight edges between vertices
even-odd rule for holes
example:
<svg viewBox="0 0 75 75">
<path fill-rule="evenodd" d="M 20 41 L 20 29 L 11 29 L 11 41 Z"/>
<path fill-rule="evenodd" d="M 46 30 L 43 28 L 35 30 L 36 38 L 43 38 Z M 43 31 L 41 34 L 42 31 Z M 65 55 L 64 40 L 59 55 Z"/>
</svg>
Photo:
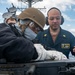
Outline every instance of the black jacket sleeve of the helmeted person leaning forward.
<svg viewBox="0 0 75 75">
<path fill-rule="evenodd" d="M 32 60 L 37 54 L 33 43 L 23 37 L 17 37 L 9 27 L 0 26 L 0 56 L 8 62 L 23 63 Z"/>
</svg>

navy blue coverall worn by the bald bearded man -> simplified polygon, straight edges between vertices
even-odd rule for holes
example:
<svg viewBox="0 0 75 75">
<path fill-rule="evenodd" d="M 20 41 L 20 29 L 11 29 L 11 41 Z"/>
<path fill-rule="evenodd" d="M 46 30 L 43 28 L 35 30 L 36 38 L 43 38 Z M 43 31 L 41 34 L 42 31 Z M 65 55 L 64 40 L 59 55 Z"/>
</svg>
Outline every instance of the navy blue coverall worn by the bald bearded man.
<svg viewBox="0 0 75 75">
<path fill-rule="evenodd" d="M 73 55 L 75 55 L 73 52 L 73 48 L 75 46 L 75 37 L 69 31 L 60 28 L 60 32 L 55 43 L 52 40 L 49 28 L 43 32 L 39 32 L 35 39 L 38 40 L 38 43 L 41 43 L 46 48 L 50 47 L 56 49 L 57 51 L 64 53 L 67 57 L 69 57 L 70 51 Z"/>
</svg>

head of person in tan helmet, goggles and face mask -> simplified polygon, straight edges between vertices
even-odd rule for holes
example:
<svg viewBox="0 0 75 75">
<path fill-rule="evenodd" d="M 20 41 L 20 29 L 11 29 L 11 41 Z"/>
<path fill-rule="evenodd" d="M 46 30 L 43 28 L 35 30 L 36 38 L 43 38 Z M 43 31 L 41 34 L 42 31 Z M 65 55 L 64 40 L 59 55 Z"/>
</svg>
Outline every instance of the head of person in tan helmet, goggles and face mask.
<svg viewBox="0 0 75 75">
<path fill-rule="evenodd" d="M 22 35 L 29 40 L 33 40 L 39 31 L 43 31 L 46 21 L 42 12 L 35 8 L 25 9 L 18 15 L 18 19 Z"/>
</svg>

